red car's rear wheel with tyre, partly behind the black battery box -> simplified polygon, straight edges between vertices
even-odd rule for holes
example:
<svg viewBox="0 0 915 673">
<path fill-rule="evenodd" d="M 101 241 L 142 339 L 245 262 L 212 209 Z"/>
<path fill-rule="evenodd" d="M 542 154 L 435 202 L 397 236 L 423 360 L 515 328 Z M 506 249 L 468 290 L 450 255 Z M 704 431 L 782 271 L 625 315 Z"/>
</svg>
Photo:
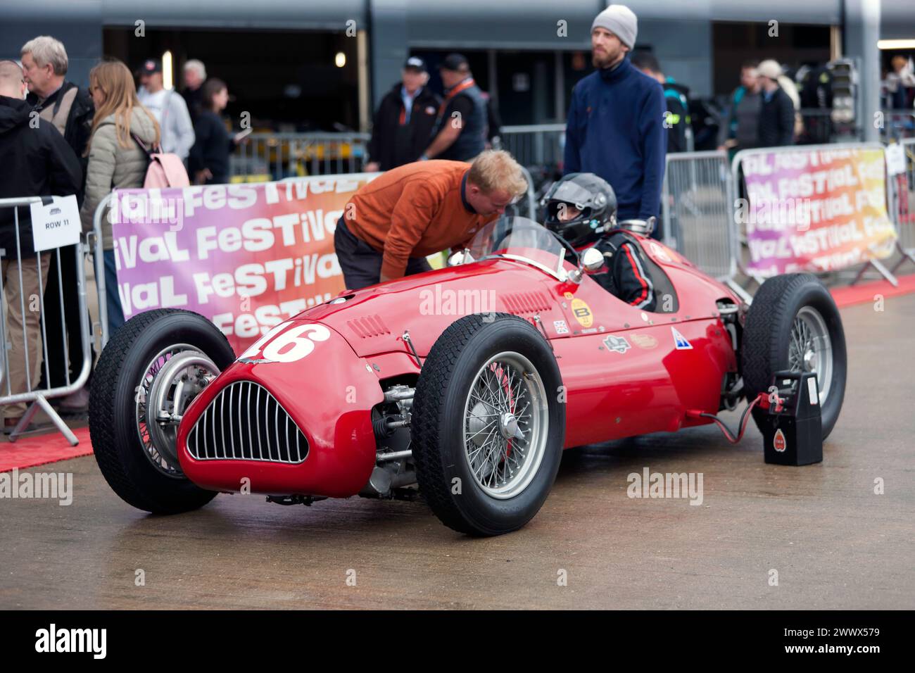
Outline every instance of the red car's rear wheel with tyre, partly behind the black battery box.
<svg viewBox="0 0 915 673">
<path fill-rule="evenodd" d="M 817 374 L 825 440 L 842 410 L 847 354 L 839 309 L 823 283 L 811 274 L 766 280 L 750 305 L 742 351 L 748 400 L 769 390 L 775 372 Z M 765 413 L 753 409 L 760 429 Z"/>
</svg>

